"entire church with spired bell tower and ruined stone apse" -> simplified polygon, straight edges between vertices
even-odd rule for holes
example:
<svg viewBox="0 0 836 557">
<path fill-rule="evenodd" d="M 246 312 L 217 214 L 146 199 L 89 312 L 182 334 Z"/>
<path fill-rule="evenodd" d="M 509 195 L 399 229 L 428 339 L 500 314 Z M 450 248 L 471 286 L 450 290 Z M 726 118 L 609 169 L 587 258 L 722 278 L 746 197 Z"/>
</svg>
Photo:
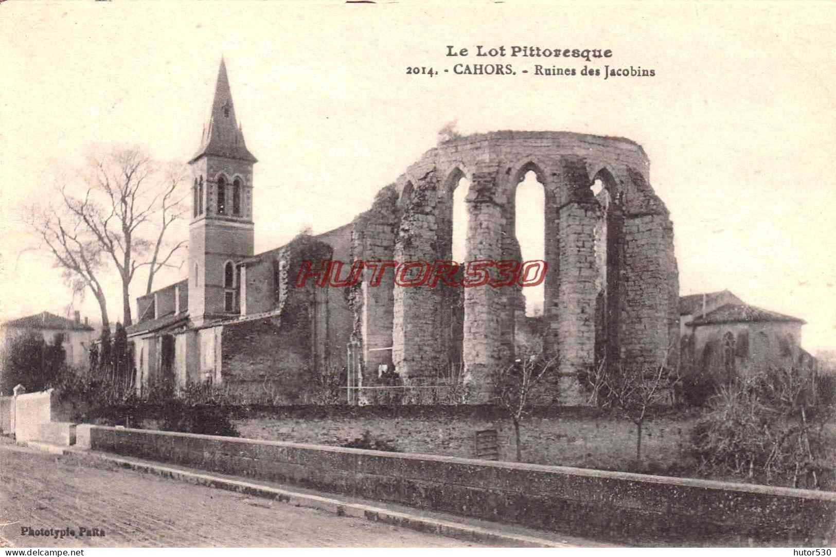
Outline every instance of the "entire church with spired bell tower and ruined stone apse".
<svg viewBox="0 0 836 557">
<path fill-rule="evenodd" d="M 297 287 L 296 279 L 304 261 L 312 269 L 342 262 L 341 277 L 356 261 L 451 261 L 453 194 L 468 184 L 466 261 L 519 261 L 515 219 L 524 207 L 515 207 L 515 192 L 530 171 L 543 187 L 548 264 L 537 334 L 562 375 L 604 360 L 659 365 L 678 348 L 673 225 L 633 141 L 553 131 L 444 141 L 353 222 L 259 254 L 256 162 L 222 63 L 190 161 L 189 277 L 140 297 L 129 329 L 140 388 L 155 377 L 251 389 L 271 381 L 293 401 L 324 366 L 374 386 L 384 370 L 421 384 L 461 365 L 472 402 L 487 401 L 492 370 L 512 361 L 515 335 L 527 327 L 522 287 L 405 287 L 394 270 L 373 286 L 368 267 L 346 288 Z M 563 400 L 577 401 L 577 381 L 565 384 Z"/>
</svg>

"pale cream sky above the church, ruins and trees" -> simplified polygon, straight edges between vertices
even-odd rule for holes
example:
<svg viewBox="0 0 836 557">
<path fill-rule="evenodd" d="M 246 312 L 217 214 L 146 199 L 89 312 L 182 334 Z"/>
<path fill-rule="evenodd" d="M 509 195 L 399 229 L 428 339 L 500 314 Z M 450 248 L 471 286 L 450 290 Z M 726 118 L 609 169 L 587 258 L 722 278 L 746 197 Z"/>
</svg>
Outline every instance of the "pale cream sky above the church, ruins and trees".
<svg viewBox="0 0 836 557">
<path fill-rule="evenodd" d="M 54 196 L 54 176 L 94 142 L 186 161 L 224 54 L 260 160 L 257 252 L 349 222 L 450 120 L 621 135 L 644 146 L 670 209 L 681 294 L 731 289 L 806 319 L 808 349 L 836 347 L 833 3 L 463 4 L 0 5 L 0 319 L 69 303 L 47 257 L 18 258 L 21 207 Z M 447 44 L 612 49 L 610 65 L 656 76 L 405 74 L 538 63 L 452 60 Z M 108 295 L 119 319 L 115 280 Z M 91 295 L 79 309 L 99 317 Z"/>
</svg>

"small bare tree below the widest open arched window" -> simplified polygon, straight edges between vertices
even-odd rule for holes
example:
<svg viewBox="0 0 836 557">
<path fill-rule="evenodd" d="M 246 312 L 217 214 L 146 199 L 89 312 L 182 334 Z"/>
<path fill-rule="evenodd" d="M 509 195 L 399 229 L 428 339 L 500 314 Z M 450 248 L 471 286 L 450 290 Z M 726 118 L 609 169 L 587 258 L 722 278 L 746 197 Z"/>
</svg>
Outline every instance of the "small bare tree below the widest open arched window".
<svg viewBox="0 0 836 557">
<path fill-rule="evenodd" d="M 493 377 L 494 403 L 507 411 L 514 425 L 517 462 L 523 460 L 520 422 L 531 413 L 533 401 L 542 394 L 544 380 L 556 369 L 556 361 L 557 357 L 545 360 L 542 355 L 530 355 L 500 368 Z"/>
</svg>

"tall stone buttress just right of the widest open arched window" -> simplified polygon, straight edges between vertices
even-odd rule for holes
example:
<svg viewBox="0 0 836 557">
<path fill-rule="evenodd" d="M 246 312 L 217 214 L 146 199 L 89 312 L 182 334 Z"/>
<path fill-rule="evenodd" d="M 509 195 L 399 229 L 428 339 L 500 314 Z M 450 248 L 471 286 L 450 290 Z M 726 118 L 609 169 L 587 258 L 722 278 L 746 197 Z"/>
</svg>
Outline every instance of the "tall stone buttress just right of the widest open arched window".
<svg viewBox="0 0 836 557">
<path fill-rule="evenodd" d="M 583 402 L 571 374 L 594 365 L 595 268 L 594 229 L 601 208 L 591 197 L 568 202 L 560 209 L 560 284 L 558 287 L 558 355 L 560 397 L 564 403 Z"/>
</svg>

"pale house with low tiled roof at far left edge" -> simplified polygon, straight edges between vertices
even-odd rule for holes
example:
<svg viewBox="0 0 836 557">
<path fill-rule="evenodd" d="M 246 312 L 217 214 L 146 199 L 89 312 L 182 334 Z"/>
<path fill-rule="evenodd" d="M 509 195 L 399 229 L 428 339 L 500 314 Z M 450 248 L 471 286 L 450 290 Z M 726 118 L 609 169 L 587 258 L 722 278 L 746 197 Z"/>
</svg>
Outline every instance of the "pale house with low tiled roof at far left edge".
<svg viewBox="0 0 836 557">
<path fill-rule="evenodd" d="M 84 318 L 82 323 L 78 311 L 75 312 L 75 319 L 66 319 L 43 311 L 3 323 L 0 325 L 3 350 L 9 340 L 16 335 L 22 335 L 27 330 L 43 335 L 43 340 L 49 344 L 53 343 L 55 335 L 63 335 L 61 345 L 64 346 L 67 365 L 79 369 L 89 367 L 89 350 L 95 338 L 95 330 L 87 323 L 87 318 Z"/>
</svg>

